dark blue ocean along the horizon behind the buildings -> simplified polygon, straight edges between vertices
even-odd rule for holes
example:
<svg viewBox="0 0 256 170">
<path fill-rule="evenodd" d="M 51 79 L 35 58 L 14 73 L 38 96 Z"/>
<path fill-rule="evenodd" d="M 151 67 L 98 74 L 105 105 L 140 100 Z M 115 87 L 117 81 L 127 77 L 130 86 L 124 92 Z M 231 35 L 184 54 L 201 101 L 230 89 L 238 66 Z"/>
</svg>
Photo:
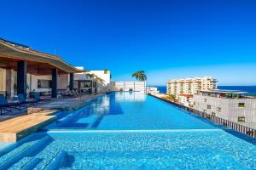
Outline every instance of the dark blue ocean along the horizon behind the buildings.
<svg viewBox="0 0 256 170">
<path fill-rule="evenodd" d="M 158 88 L 161 94 L 166 94 L 166 86 L 154 86 Z M 222 90 L 241 90 L 248 94 L 256 94 L 256 86 L 218 86 Z"/>
</svg>

